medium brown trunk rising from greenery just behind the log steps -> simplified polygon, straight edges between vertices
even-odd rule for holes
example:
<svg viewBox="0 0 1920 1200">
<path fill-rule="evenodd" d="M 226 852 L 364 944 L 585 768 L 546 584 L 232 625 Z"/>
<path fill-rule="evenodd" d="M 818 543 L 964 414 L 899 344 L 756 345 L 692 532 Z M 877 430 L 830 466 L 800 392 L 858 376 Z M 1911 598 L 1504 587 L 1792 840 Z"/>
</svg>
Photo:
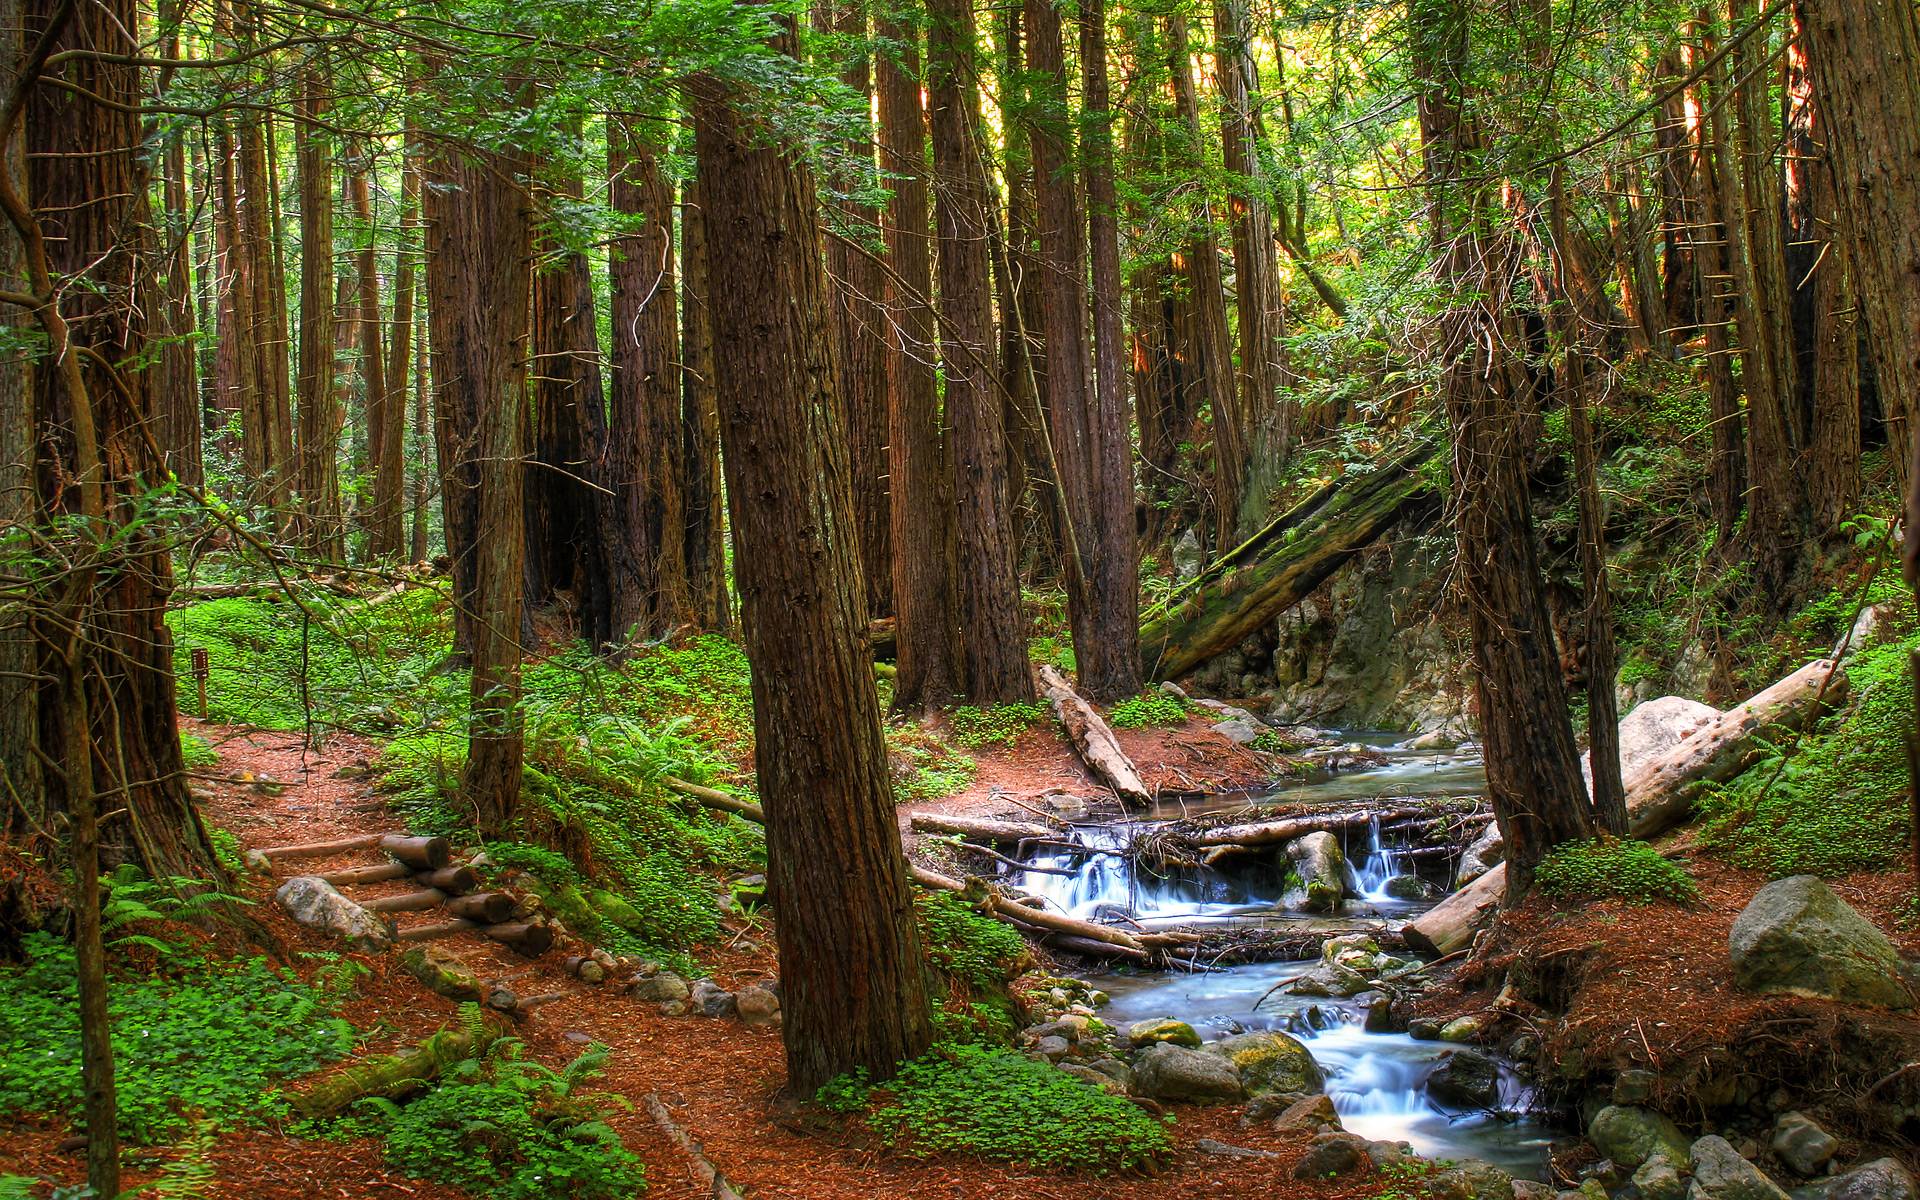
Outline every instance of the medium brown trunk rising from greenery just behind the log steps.
<svg viewBox="0 0 1920 1200">
<path fill-rule="evenodd" d="M 457 641 L 472 659 L 461 791 L 480 831 L 497 835 L 513 822 L 524 749 L 526 163 L 436 144 L 424 165 L 422 215 L 442 511 Z"/>
</svg>

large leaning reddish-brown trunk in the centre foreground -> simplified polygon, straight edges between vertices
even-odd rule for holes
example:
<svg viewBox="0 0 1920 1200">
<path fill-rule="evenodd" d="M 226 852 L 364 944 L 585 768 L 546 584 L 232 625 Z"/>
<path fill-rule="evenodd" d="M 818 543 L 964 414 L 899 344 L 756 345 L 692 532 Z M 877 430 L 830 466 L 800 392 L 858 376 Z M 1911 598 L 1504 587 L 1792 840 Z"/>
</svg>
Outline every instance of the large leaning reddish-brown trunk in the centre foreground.
<svg viewBox="0 0 1920 1200">
<path fill-rule="evenodd" d="M 818 198 L 747 106 L 693 84 L 787 1089 L 808 1096 L 856 1068 L 889 1077 L 933 1029 L 866 649 Z"/>
</svg>

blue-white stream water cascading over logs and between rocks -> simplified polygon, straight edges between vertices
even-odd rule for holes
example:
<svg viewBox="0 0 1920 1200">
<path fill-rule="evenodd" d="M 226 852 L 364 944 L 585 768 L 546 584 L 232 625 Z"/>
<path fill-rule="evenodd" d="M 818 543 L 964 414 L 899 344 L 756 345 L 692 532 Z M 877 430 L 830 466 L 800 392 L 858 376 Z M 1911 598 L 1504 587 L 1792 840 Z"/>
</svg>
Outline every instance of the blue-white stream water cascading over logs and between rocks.
<svg viewBox="0 0 1920 1200">
<path fill-rule="evenodd" d="M 1390 737 L 1369 739 L 1392 745 Z M 1356 737 L 1359 739 L 1359 737 Z M 1471 755 L 1413 755 L 1388 749 L 1373 770 L 1323 774 L 1283 785 L 1260 799 L 1340 804 L 1382 795 L 1471 795 L 1486 776 Z M 1158 820 L 1233 810 L 1250 797 L 1213 797 L 1204 806 L 1164 804 L 1140 818 L 1075 826 L 1071 847 L 1050 847 L 1027 858 L 1046 872 L 1016 872 L 1016 883 L 1046 897 L 1052 906 L 1083 920 L 1133 920 L 1142 925 L 1238 922 L 1269 927 L 1321 927 L 1332 920 L 1352 929 L 1369 920 L 1394 925 L 1428 902 L 1386 895 L 1394 876 L 1423 874 L 1438 887 L 1432 860 L 1415 860 L 1405 847 L 1380 837 L 1379 822 L 1350 829 L 1344 851 L 1352 868 L 1350 899 L 1338 914 L 1290 912 L 1286 864 L 1275 856 L 1227 870 L 1135 872 L 1116 851 Z M 1254 858 L 1254 856 L 1248 856 Z M 1058 874 L 1066 872 L 1066 874 Z M 1281 987 L 1309 970 L 1308 962 L 1263 962 L 1206 973 L 1117 970 L 1091 975 L 1112 996 L 1102 1020 L 1125 1029 L 1148 1018 L 1190 1023 L 1208 1041 L 1252 1029 L 1284 1029 L 1302 1039 L 1327 1073 L 1327 1094 L 1346 1127 L 1361 1137 L 1405 1140 L 1428 1158 L 1484 1158 L 1517 1177 L 1544 1175 L 1551 1133 L 1534 1119 L 1507 1119 L 1453 1110 L 1430 1100 L 1427 1075 L 1452 1050 L 1444 1043 L 1413 1041 L 1404 1033 L 1367 1033 L 1359 1008 L 1342 1000 L 1296 996 Z M 1501 1108 L 1524 1110 L 1526 1096 L 1511 1075 L 1501 1081 Z"/>
</svg>

